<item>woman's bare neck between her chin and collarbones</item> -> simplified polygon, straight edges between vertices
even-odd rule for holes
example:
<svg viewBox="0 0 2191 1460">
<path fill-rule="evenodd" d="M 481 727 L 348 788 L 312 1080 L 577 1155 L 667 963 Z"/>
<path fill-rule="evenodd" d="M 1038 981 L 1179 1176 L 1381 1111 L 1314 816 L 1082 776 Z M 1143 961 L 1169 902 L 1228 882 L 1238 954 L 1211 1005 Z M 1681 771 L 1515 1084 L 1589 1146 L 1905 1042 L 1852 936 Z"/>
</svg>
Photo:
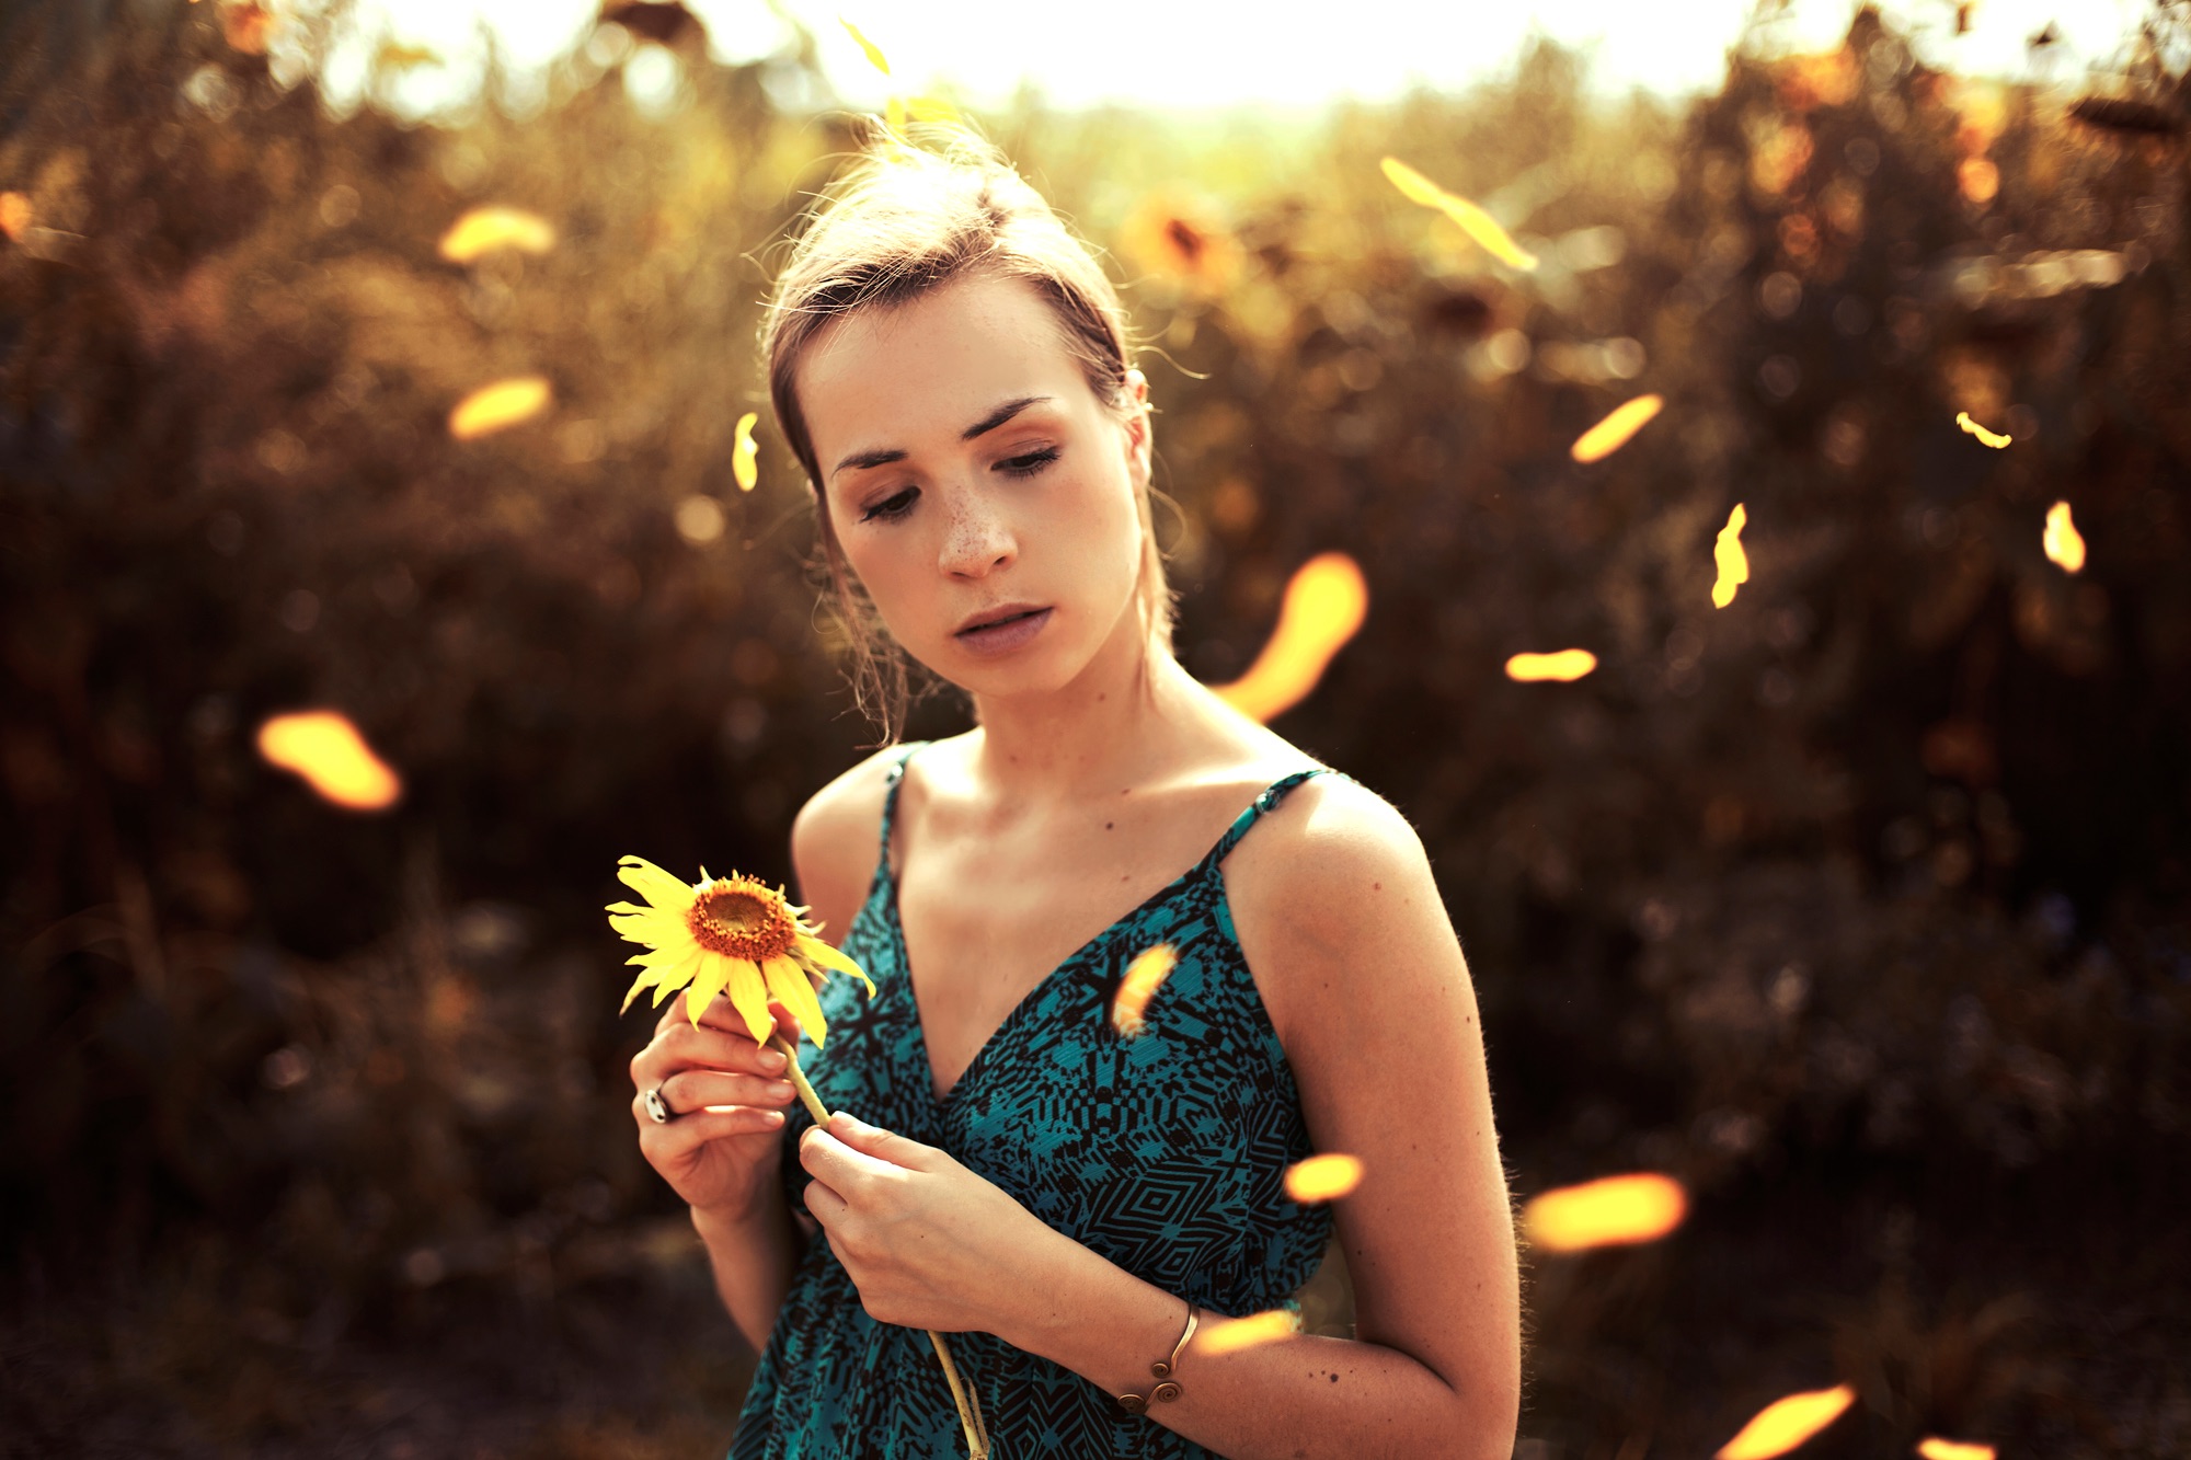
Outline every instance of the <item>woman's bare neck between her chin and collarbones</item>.
<svg viewBox="0 0 2191 1460">
<path fill-rule="evenodd" d="M 1144 651 L 1142 616 L 1128 609 L 1071 684 L 975 699 L 973 769 L 1019 805 L 1146 785 L 1194 737 L 1196 695 L 1168 649 Z"/>
</svg>

